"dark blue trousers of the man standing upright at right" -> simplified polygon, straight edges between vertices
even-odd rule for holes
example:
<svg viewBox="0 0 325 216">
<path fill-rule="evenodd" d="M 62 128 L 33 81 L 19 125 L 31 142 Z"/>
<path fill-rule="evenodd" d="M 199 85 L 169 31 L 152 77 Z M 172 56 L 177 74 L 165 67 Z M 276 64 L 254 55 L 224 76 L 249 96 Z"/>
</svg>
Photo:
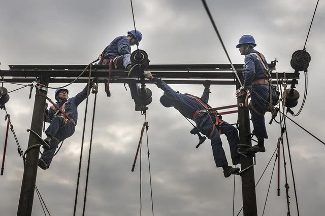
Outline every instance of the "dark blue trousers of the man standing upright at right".
<svg viewBox="0 0 325 216">
<path fill-rule="evenodd" d="M 251 120 L 253 123 L 253 133 L 257 139 L 268 138 L 268 134 L 265 127 L 264 114 L 266 112 L 267 101 L 269 98 L 269 86 L 265 84 L 257 84 L 252 86 L 250 91 L 250 101 L 254 109 L 259 113 L 256 113 L 251 106 L 249 111 L 251 114 Z M 262 114 L 262 115 L 261 115 Z"/>
</svg>

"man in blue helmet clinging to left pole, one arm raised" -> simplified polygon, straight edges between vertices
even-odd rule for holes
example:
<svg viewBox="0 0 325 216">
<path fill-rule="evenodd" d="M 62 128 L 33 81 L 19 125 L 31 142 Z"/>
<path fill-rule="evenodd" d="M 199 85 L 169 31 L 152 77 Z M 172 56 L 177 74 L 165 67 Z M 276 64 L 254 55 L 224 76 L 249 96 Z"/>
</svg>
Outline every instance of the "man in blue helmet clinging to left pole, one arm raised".
<svg viewBox="0 0 325 216">
<path fill-rule="evenodd" d="M 92 86 L 92 84 L 93 82 L 90 85 Z M 50 148 L 43 145 L 44 151 L 38 163 L 38 166 L 42 169 L 49 168 L 58 144 L 74 134 L 78 120 L 78 105 L 89 95 L 89 93 L 87 94 L 87 88 L 86 86 L 81 92 L 71 98 L 69 98 L 68 89 L 59 88 L 55 90 L 56 104 L 71 119 L 67 119 L 54 105 L 51 105 L 48 110 L 50 125 L 45 131 L 47 137 L 44 139 Z"/>
</svg>

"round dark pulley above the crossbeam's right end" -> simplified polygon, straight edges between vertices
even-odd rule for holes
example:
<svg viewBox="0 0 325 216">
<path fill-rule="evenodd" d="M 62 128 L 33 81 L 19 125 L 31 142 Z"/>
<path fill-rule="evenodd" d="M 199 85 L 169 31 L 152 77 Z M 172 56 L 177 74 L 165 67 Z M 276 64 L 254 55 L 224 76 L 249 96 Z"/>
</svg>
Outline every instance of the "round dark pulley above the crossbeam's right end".
<svg viewBox="0 0 325 216">
<path fill-rule="evenodd" d="M 297 50 L 291 56 L 290 65 L 295 70 L 307 72 L 310 60 L 311 57 L 306 50 Z"/>
</svg>

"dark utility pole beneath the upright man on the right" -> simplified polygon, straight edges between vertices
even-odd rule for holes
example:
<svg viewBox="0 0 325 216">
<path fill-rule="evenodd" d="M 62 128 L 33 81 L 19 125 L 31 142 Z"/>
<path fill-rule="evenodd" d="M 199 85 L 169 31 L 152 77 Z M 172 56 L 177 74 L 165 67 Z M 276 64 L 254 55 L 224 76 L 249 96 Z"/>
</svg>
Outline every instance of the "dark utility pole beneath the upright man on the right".
<svg viewBox="0 0 325 216">
<path fill-rule="evenodd" d="M 237 89 L 240 86 L 237 85 Z M 246 94 L 237 97 L 238 104 L 245 104 Z M 239 143 L 252 146 L 250 137 L 250 122 L 249 122 L 249 111 L 248 107 L 238 108 L 238 124 L 239 124 Z M 240 152 L 246 152 L 247 147 L 240 147 Z M 241 156 L 240 158 L 241 170 L 252 166 L 252 156 Z M 256 207 L 256 193 L 255 193 L 255 178 L 254 178 L 254 167 L 250 167 L 245 170 L 242 174 L 242 193 L 243 193 L 243 210 L 244 216 L 257 216 Z"/>
</svg>

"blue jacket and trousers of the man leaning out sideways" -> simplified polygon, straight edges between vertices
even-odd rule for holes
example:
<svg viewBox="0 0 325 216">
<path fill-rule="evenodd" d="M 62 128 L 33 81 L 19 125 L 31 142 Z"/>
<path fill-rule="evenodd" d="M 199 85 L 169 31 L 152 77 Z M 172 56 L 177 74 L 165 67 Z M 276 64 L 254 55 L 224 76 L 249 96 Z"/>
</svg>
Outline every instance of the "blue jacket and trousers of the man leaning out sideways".
<svg viewBox="0 0 325 216">
<path fill-rule="evenodd" d="M 196 123 L 198 130 L 211 140 L 212 153 L 217 167 L 228 165 L 218 129 L 221 129 L 221 133 L 225 134 L 228 139 L 232 159 L 234 160 L 237 158 L 238 160 L 239 155 L 237 153 L 237 144 L 239 137 L 237 129 L 233 125 L 223 122 L 213 130 L 215 124 L 215 116 L 213 114 L 201 113 L 193 119 L 193 115 L 196 111 L 205 110 L 205 107 L 200 102 L 192 98 L 189 94 L 181 94 L 174 91 L 169 85 L 158 78 L 153 78 L 152 81 L 158 88 L 164 90 L 174 108 L 186 118 L 193 120 Z M 209 89 L 205 88 L 200 100 L 207 104 L 209 93 Z"/>
</svg>

